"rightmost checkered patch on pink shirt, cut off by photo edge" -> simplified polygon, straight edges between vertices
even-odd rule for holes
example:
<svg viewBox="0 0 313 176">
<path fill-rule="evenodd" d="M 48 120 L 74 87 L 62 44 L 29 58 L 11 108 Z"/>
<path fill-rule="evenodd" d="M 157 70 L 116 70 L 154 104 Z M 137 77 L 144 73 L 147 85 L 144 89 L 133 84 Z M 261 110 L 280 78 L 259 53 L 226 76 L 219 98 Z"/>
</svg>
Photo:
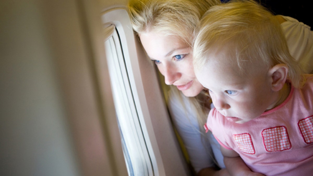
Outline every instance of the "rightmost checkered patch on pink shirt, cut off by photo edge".
<svg viewBox="0 0 313 176">
<path fill-rule="evenodd" d="M 310 144 L 313 142 L 313 116 L 301 119 L 298 126 L 304 142 Z"/>
</svg>

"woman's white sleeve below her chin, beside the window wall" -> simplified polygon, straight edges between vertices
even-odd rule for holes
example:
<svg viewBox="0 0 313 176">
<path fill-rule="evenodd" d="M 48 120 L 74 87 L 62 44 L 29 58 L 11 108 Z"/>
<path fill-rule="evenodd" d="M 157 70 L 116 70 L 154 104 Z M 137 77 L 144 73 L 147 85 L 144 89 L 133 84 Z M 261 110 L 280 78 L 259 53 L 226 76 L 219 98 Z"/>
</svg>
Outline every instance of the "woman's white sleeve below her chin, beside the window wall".
<svg viewBox="0 0 313 176">
<path fill-rule="evenodd" d="M 202 168 L 214 166 L 213 153 L 210 142 L 208 140 L 205 142 L 201 138 L 196 110 L 191 108 L 187 97 L 182 99 L 184 105 L 177 98 L 170 96 L 168 108 L 174 126 L 187 149 L 192 167 L 198 173 Z M 211 133 L 206 133 L 207 137 L 209 134 Z"/>
</svg>

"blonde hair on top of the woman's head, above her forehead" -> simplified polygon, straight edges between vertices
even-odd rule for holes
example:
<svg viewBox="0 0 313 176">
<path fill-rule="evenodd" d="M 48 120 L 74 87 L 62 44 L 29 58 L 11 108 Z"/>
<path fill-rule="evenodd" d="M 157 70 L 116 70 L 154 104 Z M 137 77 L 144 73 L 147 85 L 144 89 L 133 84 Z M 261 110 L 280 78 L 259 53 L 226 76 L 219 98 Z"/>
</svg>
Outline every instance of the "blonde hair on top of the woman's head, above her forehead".
<svg viewBox="0 0 313 176">
<path fill-rule="evenodd" d="M 219 0 L 130 0 L 127 8 L 134 31 L 175 35 L 192 45 L 203 14 Z"/>
</svg>

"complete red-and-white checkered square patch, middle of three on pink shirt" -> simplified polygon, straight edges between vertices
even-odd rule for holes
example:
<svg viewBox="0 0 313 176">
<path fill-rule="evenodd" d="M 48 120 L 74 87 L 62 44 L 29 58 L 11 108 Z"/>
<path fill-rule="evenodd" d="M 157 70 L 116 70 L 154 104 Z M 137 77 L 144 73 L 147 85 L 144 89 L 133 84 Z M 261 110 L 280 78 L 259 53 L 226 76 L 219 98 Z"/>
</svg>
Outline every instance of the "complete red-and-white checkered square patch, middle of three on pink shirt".
<svg viewBox="0 0 313 176">
<path fill-rule="evenodd" d="M 285 126 L 267 128 L 262 131 L 266 151 L 276 152 L 291 148 L 287 128 Z"/>
</svg>

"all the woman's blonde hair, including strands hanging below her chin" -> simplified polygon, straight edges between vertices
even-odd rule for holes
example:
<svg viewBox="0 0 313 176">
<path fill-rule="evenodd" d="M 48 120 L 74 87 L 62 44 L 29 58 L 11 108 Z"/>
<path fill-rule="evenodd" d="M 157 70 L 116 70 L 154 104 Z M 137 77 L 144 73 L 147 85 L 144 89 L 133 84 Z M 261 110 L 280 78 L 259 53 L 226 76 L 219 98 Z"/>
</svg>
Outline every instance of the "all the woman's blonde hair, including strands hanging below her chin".
<svg viewBox="0 0 313 176">
<path fill-rule="evenodd" d="M 132 28 L 138 35 L 145 32 L 155 32 L 164 36 L 174 35 L 192 46 L 195 28 L 203 14 L 210 7 L 220 3 L 220 0 L 130 0 L 127 8 Z M 161 84 L 165 99 L 176 97 L 186 111 L 182 92 L 175 86 L 165 85 L 164 81 L 161 81 Z M 188 100 L 197 114 L 199 133 L 203 141 L 208 141 L 203 128 L 207 119 L 204 102 L 208 97 L 203 94 L 202 91 L 198 96 L 188 97 Z"/>
</svg>

